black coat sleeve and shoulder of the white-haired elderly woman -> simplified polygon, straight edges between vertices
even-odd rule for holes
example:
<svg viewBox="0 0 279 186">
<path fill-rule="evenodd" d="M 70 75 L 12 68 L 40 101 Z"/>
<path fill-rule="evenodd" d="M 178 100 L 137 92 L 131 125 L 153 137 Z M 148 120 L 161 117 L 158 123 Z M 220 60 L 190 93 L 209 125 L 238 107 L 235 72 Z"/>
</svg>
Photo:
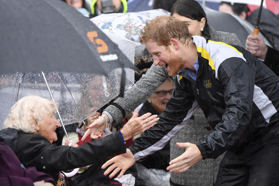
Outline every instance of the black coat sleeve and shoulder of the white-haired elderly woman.
<svg viewBox="0 0 279 186">
<path fill-rule="evenodd" d="M 126 152 L 119 132 L 79 147 L 56 146 L 42 135 L 17 133 L 15 154 L 20 162 L 25 167 L 34 166 L 38 171 L 51 174 L 54 179 L 58 171 L 84 167 Z"/>
</svg>

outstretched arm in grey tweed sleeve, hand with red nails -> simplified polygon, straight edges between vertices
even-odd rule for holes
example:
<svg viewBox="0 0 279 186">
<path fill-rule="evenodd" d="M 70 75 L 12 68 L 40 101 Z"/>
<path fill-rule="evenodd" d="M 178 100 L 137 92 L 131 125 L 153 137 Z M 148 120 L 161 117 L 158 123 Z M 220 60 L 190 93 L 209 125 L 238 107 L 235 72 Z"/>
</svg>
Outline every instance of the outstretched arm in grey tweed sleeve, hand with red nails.
<svg viewBox="0 0 279 186">
<path fill-rule="evenodd" d="M 140 80 L 135 83 L 136 86 L 133 86 L 124 93 L 123 98 L 118 98 L 112 105 L 105 108 L 102 116 L 106 117 L 108 123 L 115 121 L 115 123 L 118 124 L 128 113 L 151 96 L 167 78 L 169 78 L 169 74 L 165 70 L 165 67 L 155 66 L 153 64 L 150 69 L 147 70 L 146 74 L 143 74 Z M 94 133 L 94 135 L 99 135 L 104 130 L 105 125 L 105 118 L 100 117 L 94 120 L 87 128 L 90 129 L 90 132 Z M 88 133 L 86 134 L 88 135 Z M 83 137 L 82 140 L 84 140 L 85 137 Z"/>
</svg>

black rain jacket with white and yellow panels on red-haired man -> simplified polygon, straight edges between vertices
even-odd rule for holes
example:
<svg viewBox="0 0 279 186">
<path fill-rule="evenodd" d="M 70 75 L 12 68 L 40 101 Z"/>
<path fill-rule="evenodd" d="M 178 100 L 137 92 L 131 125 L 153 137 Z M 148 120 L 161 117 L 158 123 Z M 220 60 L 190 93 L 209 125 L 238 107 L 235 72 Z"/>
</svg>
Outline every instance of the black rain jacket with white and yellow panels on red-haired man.
<svg viewBox="0 0 279 186">
<path fill-rule="evenodd" d="M 193 36 L 199 69 L 196 81 L 183 69 L 176 88 L 157 124 L 137 138 L 129 149 L 136 160 L 161 149 L 198 106 L 212 133 L 196 143 L 203 159 L 226 150 L 240 153 L 279 133 L 279 78 L 242 47 Z"/>
</svg>

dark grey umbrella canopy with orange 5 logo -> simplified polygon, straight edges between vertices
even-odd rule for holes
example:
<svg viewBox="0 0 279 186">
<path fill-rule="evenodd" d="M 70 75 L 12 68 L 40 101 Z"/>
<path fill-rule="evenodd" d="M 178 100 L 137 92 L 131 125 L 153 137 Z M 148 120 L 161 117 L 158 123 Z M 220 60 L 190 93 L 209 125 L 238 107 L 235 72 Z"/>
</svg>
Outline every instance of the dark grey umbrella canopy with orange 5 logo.
<svg viewBox="0 0 279 186">
<path fill-rule="evenodd" d="M 0 74 L 136 69 L 99 28 L 60 0 L 0 0 L 0 24 Z"/>
</svg>

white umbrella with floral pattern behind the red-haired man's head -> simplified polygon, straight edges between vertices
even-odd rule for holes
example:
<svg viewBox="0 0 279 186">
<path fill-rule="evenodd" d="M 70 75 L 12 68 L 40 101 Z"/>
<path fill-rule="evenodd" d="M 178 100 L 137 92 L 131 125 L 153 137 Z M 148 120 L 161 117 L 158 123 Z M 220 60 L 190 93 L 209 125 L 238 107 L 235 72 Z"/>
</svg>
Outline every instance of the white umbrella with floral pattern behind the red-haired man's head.
<svg viewBox="0 0 279 186">
<path fill-rule="evenodd" d="M 170 12 L 155 9 L 142 12 L 101 14 L 90 20 L 101 30 L 109 31 L 139 43 L 140 31 L 144 28 L 145 22 L 161 15 L 170 15 Z"/>
</svg>

